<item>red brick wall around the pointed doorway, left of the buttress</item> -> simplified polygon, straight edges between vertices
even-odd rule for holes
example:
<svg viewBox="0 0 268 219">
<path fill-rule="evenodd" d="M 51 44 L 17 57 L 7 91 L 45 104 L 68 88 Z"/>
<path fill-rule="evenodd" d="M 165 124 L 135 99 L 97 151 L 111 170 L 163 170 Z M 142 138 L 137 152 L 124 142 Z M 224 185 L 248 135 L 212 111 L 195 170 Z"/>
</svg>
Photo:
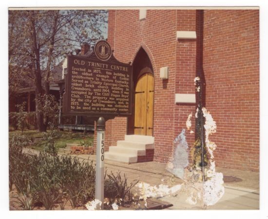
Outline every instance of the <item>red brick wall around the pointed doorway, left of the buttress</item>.
<svg viewBox="0 0 268 219">
<path fill-rule="evenodd" d="M 142 46 L 152 62 L 155 86 L 154 160 L 167 161 L 171 156 L 174 139 L 176 11 L 147 10 L 146 20 L 141 21 L 139 10 L 116 10 L 109 14 L 109 20 L 111 20 L 110 15 L 112 19 L 115 16 L 115 21 L 112 21 L 112 23 L 115 22 L 115 30 L 109 30 L 108 40 L 110 43 L 114 40 L 112 47 L 115 50 L 116 59 L 122 62 L 133 61 L 135 54 Z M 110 33 L 114 33 L 114 36 Z M 159 69 L 164 66 L 170 68 L 169 80 L 159 78 Z M 107 142 L 107 145 L 115 144 L 116 140 L 124 138 L 124 135 L 119 134 L 117 130 L 119 127 L 122 130 L 125 128 L 123 134 L 126 134 L 126 124 L 127 120 L 123 118 L 116 118 L 112 121 L 113 140 Z"/>
</svg>

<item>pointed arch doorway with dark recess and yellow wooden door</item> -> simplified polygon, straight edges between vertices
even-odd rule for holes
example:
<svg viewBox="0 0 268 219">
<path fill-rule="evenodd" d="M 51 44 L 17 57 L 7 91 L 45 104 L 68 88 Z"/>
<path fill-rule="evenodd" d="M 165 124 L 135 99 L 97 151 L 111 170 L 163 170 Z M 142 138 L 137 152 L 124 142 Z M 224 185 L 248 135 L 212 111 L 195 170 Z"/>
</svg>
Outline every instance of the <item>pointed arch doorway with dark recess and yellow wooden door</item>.
<svg viewBox="0 0 268 219">
<path fill-rule="evenodd" d="M 133 116 L 128 118 L 127 133 L 153 136 L 154 74 L 142 47 L 133 61 L 133 83 Z"/>
</svg>

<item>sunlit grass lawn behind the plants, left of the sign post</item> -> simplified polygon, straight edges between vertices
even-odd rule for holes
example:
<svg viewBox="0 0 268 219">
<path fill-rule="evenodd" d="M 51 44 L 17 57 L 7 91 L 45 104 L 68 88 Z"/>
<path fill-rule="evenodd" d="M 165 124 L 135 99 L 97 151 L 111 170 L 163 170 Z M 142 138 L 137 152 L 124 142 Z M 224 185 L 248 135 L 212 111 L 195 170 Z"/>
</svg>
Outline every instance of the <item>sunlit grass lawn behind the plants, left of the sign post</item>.
<svg viewBox="0 0 268 219">
<path fill-rule="evenodd" d="M 50 132 L 48 130 L 47 132 Z M 9 139 L 12 138 L 14 134 L 21 134 L 21 131 L 10 131 L 9 132 Z M 45 149 L 47 141 L 43 139 L 44 133 L 39 133 L 37 130 L 25 130 L 23 131 L 22 135 L 28 136 L 32 140 L 38 138 L 35 143 L 33 143 L 30 147 L 42 151 Z M 66 143 L 89 143 L 93 145 L 93 134 L 92 133 L 80 133 L 80 132 L 73 132 L 70 133 L 69 131 L 58 131 L 58 137 L 55 140 L 55 147 L 58 148 L 65 148 Z"/>
</svg>

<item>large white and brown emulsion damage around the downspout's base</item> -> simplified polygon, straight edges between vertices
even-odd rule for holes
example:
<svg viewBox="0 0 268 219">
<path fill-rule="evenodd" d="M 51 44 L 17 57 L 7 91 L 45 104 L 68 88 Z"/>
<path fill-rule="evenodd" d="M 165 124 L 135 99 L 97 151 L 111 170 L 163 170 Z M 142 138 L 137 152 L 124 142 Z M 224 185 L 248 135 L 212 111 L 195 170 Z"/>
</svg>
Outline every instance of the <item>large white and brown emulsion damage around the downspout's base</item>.
<svg viewBox="0 0 268 219">
<path fill-rule="evenodd" d="M 199 92 L 201 84 L 199 77 L 194 79 L 194 84 L 196 92 Z M 202 107 L 200 97 L 199 100 L 195 113 L 197 137 L 190 150 L 192 165 L 188 166 L 188 144 L 183 129 L 174 140 L 175 151 L 167 170 L 184 180 L 181 191 L 187 194 L 188 203 L 205 207 L 214 205 L 223 196 L 224 182 L 223 174 L 217 173 L 215 169 L 213 151 L 216 144 L 209 139 L 209 136 L 216 132 L 216 122 L 210 112 Z M 192 114 L 188 116 L 186 122 L 188 130 L 191 129 L 191 117 Z"/>
</svg>

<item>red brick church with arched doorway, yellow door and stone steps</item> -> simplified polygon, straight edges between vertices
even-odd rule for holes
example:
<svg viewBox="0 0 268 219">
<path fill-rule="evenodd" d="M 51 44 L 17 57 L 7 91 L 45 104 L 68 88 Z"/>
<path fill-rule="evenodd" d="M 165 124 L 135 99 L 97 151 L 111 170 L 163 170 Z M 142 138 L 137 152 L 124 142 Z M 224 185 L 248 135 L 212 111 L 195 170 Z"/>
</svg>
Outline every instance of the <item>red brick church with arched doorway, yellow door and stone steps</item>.
<svg viewBox="0 0 268 219">
<path fill-rule="evenodd" d="M 259 10 L 109 10 L 108 42 L 133 65 L 133 116 L 106 122 L 105 159 L 169 162 L 202 71 L 216 166 L 259 170 Z M 186 132 L 188 146 L 195 133 Z"/>
</svg>

